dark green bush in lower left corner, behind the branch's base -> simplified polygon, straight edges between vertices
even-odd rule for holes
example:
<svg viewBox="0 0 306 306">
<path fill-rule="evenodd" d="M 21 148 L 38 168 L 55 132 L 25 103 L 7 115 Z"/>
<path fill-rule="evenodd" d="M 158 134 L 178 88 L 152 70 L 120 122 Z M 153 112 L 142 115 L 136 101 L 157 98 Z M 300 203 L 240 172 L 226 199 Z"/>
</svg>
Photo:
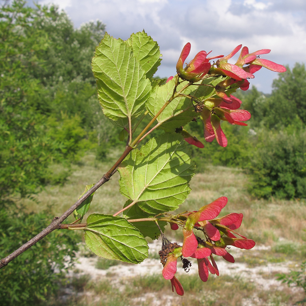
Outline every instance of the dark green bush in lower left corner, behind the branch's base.
<svg viewBox="0 0 306 306">
<path fill-rule="evenodd" d="M 9 255 L 48 223 L 47 213 L 1 209 L 0 256 Z M 76 235 L 55 231 L 1 269 L 1 305 L 39 305 L 56 293 L 77 251 Z"/>
</svg>

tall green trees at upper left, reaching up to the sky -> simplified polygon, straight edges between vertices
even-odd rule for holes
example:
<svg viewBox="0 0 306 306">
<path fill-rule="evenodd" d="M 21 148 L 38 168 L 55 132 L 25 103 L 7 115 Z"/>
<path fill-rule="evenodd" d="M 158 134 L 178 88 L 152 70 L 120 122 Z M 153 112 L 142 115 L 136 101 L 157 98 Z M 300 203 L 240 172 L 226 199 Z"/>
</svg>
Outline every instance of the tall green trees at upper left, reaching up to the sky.
<svg viewBox="0 0 306 306">
<path fill-rule="evenodd" d="M 2 2 L 1 198 L 35 193 L 50 177 L 50 162 L 68 165 L 92 147 L 89 140 L 100 141 L 91 58 L 104 29 L 97 21 L 76 30 L 55 6 Z"/>
</svg>

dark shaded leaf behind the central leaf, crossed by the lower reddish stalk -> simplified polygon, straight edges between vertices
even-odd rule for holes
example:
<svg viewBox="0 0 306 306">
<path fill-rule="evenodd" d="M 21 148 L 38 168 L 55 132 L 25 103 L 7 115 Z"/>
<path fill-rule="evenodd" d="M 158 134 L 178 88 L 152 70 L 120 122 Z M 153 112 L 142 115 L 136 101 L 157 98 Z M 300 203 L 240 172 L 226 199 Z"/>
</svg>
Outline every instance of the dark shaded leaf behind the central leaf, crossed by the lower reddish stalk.
<svg viewBox="0 0 306 306">
<path fill-rule="evenodd" d="M 127 200 L 124 207 L 128 206 L 132 201 Z M 148 214 L 141 210 L 138 205 L 133 205 L 128 210 L 123 212 L 124 216 L 128 219 L 140 219 L 140 218 L 150 218 L 154 217 L 152 214 Z M 153 221 L 140 221 L 140 222 L 132 222 L 133 226 L 135 226 L 140 233 L 144 237 L 150 237 L 151 239 L 157 239 L 160 235 L 159 228 L 157 227 L 156 223 Z M 162 232 L 165 230 L 165 226 L 167 222 L 159 221 L 159 227 L 161 228 Z"/>
</svg>

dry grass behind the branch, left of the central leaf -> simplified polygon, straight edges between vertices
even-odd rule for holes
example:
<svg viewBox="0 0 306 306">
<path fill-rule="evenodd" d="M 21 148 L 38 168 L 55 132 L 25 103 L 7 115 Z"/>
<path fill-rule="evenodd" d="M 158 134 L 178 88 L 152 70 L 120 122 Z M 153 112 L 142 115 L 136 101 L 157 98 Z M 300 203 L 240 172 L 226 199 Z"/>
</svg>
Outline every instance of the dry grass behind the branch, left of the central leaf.
<svg viewBox="0 0 306 306">
<path fill-rule="evenodd" d="M 106 162 L 98 162 L 94 155 L 87 155 L 83 158 L 81 166 L 73 166 L 73 173 L 65 185 L 47 186 L 38 194 L 37 202 L 26 199 L 21 203 L 26 205 L 29 211 L 42 211 L 47 208 L 53 216 L 61 215 L 79 198 L 86 185 L 100 180 L 114 164 L 117 155 L 114 154 L 113 158 L 107 159 Z M 114 214 L 122 208 L 126 198 L 119 193 L 118 179 L 117 172 L 95 192 L 91 213 Z"/>
</svg>

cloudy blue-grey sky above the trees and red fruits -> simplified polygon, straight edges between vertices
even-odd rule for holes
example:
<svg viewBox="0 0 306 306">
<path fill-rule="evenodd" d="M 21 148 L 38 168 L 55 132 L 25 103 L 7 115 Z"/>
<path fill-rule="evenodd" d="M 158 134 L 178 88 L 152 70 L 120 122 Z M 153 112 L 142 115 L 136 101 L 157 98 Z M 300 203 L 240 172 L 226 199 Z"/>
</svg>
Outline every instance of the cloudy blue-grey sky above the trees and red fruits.
<svg viewBox="0 0 306 306">
<path fill-rule="evenodd" d="M 227 55 L 239 44 L 250 52 L 271 49 L 263 55 L 291 68 L 306 57 L 305 0 L 39 0 L 64 9 L 76 28 L 100 20 L 115 38 L 127 39 L 143 29 L 159 43 L 161 77 L 174 75 L 185 43 L 192 45 L 190 58 L 200 50 L 211 56 Z M 230 61 L 231 62 L 231 61 Z M 235 63 L 233 58 L 232 63 Z M 250 80 L 260 91 L 271 92 L 278 75 L 261 69 Z"/>
</svg>

